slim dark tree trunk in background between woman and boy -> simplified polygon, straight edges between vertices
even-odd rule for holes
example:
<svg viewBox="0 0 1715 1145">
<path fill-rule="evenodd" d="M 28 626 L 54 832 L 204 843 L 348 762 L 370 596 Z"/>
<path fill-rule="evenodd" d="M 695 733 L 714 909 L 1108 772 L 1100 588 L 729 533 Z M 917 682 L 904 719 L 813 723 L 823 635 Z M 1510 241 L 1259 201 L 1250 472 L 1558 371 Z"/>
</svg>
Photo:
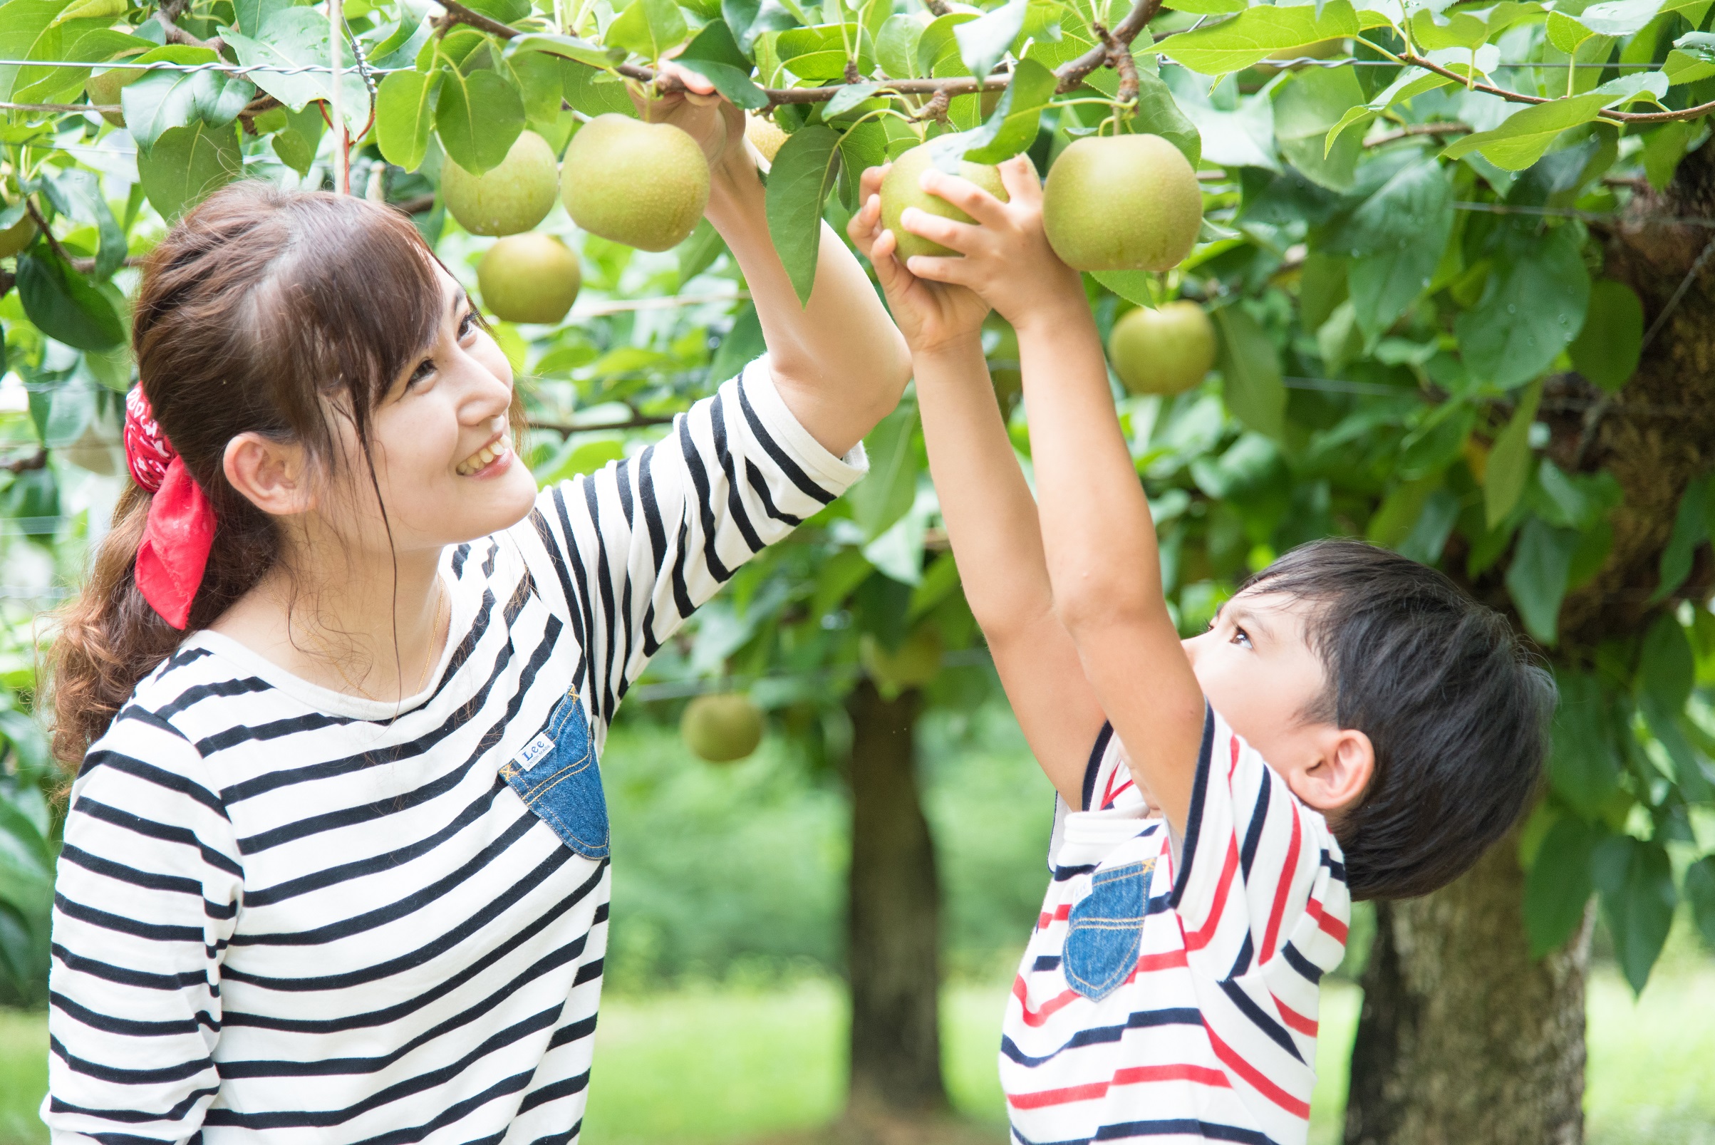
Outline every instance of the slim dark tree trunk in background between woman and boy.
<svg viewBox="0 0 1715 1145">
<path fill-rule="evenodd" d="M 883 699 L 870 680 L 847 699 L 852 1027 L 845 1121 L 876 1130 L 947 1109 L 936 1001 L 940 890 L 912 735 L 921 708 L 918 692 Z"/>
</svg>

